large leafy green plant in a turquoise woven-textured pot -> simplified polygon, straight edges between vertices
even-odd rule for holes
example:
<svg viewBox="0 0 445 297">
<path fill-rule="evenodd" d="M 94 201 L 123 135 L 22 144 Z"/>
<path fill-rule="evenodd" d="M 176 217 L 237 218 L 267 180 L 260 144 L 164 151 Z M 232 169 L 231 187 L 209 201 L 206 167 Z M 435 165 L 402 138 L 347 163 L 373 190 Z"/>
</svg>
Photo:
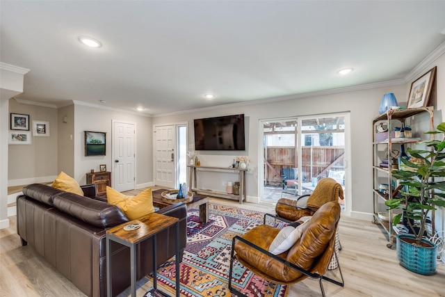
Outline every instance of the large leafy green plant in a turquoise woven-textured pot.
<svg viewBox="0 0 445 297">
<path fill-rule="evenodd" d="M 407 149 L 410 158 L 402 158 L 399 169 L 392 171 L 393 177 L 401 180 L 403 198 L 385 202 L 389 209 L 403 209 L 402 214 L 394 216 L 393 224 L 401 223 L 403 218 L 412 234 L 397 236 L 399 262 L 410 271 L 425 275 L 435 272 L 437 257 L 435 244 L 424 237 L 428 233 L 428 215 L 436 206 L 445 207 L 445 122 L 438 125 L 437 130 L 425 133 L 442 134 L 442 140 L 419 142 L 425 143 L 430 150 Z M 419 255 L 423 255 L 423 259 L 411 259 Z"/>
</svg>

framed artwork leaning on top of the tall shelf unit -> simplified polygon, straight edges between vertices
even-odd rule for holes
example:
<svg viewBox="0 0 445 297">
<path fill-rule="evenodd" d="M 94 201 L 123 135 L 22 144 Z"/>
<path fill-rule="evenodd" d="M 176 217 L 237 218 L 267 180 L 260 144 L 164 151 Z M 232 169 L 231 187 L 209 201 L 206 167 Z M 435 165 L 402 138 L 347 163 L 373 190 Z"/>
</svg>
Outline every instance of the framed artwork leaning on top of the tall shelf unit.
<svg viewBox="0 0 445 297">
<path fill-rule="evenodd" d="M 408 97 L 407 109 L 426 107 L 430 99 L 432 83 L 436 77 L 436 68 L 423 74 L 411 84 L 410 96 Z"/>
</svg>

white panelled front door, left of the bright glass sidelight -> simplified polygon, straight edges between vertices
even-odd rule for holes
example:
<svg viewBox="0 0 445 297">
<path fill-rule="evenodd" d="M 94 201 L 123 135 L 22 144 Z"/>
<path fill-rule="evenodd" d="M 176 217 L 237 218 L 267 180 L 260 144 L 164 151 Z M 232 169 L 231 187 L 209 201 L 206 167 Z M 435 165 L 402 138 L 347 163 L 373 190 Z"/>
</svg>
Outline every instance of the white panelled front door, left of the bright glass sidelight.
<svg viewBox="0 0 445 297">
<path fill-rule="evenodd" d="M 175 125 L 154 127 L 154 176 L 156 186 L 176 186 L 176 128 Z"/>
</svg>

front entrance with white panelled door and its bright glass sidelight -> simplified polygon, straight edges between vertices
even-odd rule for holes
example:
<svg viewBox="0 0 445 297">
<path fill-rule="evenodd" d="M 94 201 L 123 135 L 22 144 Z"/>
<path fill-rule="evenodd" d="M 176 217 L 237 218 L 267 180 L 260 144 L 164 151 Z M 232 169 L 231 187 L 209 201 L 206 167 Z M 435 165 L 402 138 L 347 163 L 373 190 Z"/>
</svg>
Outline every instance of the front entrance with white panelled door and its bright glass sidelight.
<svg viewBox="0 0 445 297">
<path fill-rule="evenodd" d="M 154 126 L 154 184 L 179 188 L 187 181 L 187 124 Z"/>
</svg>

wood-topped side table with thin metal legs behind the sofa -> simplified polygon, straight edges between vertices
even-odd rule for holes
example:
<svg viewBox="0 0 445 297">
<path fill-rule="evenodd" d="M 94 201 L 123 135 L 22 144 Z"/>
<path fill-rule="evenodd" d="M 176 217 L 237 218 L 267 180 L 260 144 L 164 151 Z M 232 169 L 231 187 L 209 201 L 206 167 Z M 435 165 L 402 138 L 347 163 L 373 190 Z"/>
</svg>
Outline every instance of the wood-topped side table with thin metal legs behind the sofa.
<svg viewBox="0 0 445 297">
<path fill-rule="evenodd" d="M 126 231 L 124 227 L 131 224 L 139 224 L 136 230 Z M 153 238 L 153 287 L 156 289 L 156 234 L 175 225 L 176 229 L 176 296 L 179 297 L 179 219 L 163 214 L 147 214 L 129 223 L 118 225 L 106 230 L 106 286 L 108 296 L 113 296 L 111 286 L 111 245 L 110 241 L 118 242 L 130 248 L 130 270 L 131 270 L 131 296 L 136 297 L 136 245 L 145 239 Z M 163 292 L 159 291 L 162 295 Z M 165 295 L 168 296 L 168 295 Z"/>
</svg>

